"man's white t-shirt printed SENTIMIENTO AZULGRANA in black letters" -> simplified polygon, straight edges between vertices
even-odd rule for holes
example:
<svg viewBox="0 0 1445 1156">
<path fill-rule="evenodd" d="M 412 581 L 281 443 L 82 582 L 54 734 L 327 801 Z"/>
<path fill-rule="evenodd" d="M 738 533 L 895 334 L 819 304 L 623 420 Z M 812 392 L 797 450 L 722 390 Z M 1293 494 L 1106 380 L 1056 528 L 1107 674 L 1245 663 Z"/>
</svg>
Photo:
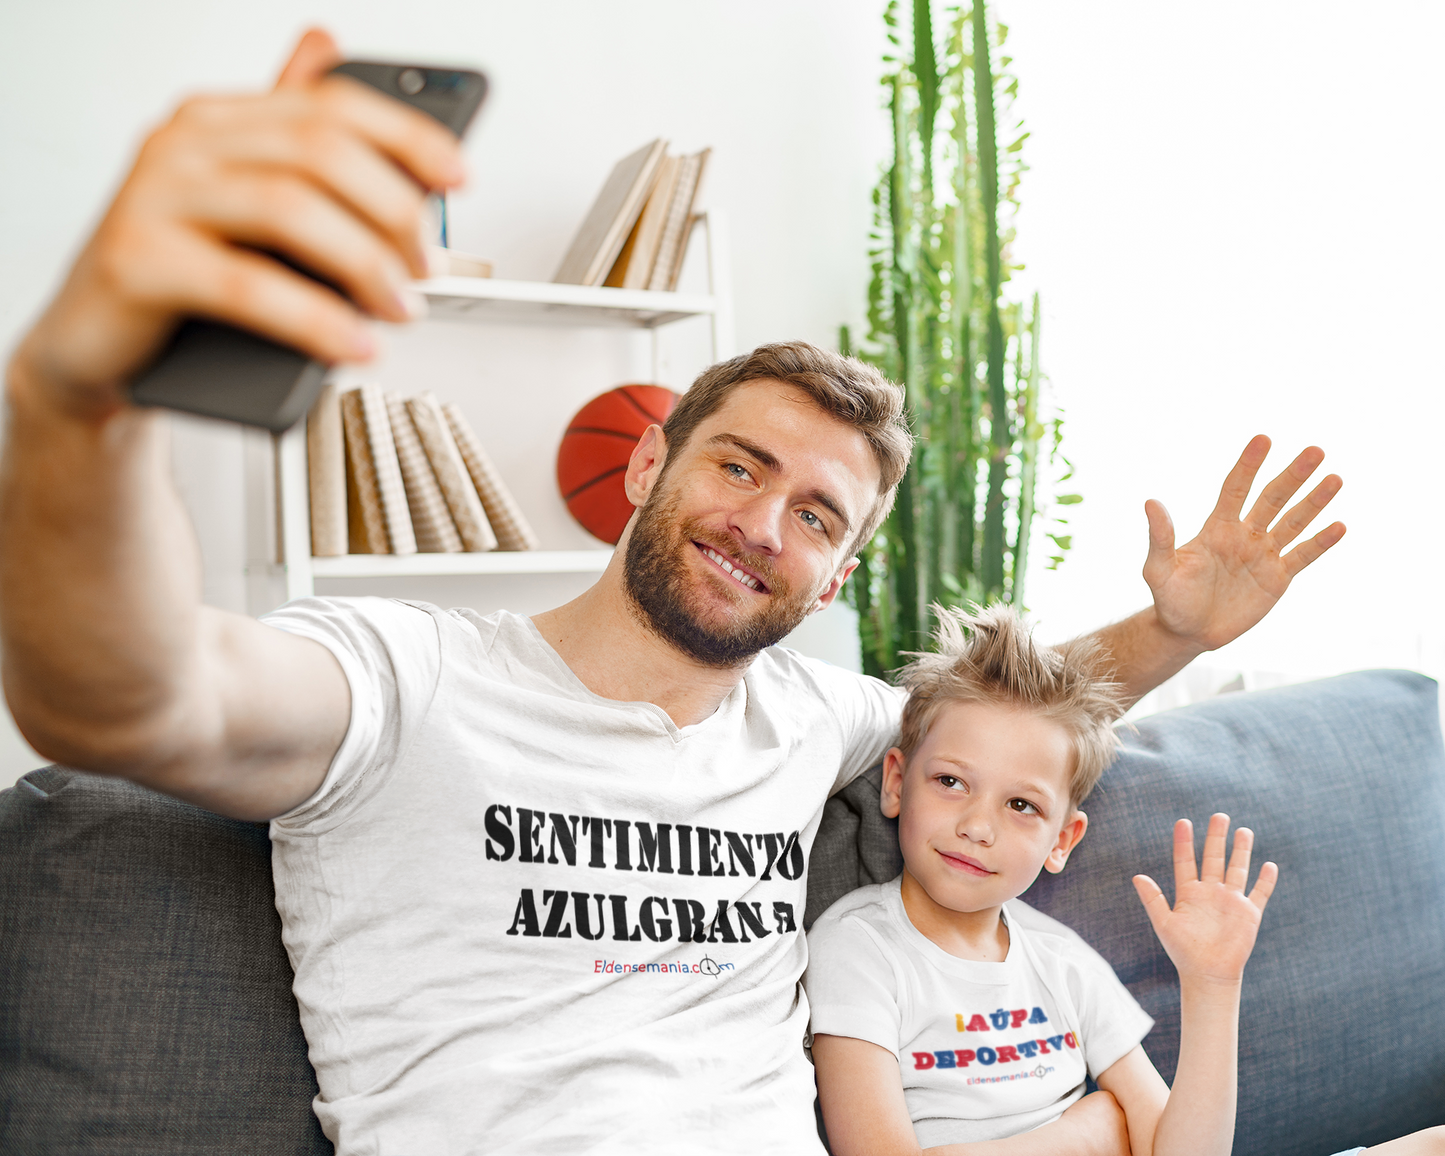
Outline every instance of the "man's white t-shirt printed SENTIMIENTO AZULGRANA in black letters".
<svg viewBox="0 0 1445 1156">
<path fill-rule="evenodd" d="M 805 863 L 896 691 L 772 649 L 679 730 L 516 614 L 316 598 L 266 621 L 351 685 L 324 785 L 272 824 L 338 1156 L 819 1150 Z"/>
</svg>

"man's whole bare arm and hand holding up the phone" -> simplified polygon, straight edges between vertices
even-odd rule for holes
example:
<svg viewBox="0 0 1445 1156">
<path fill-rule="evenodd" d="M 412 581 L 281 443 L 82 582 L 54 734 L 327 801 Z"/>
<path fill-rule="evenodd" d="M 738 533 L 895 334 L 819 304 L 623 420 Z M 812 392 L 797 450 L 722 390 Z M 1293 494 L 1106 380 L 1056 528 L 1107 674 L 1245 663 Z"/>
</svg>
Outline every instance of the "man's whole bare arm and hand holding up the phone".
<svg viewBox="0 0 1445 1156">
<path fill-rule="evenodd" d="M 370 357 L 361 309 L 416 314 L 425 192 L 461 181 L 460 150 L 429 117 L 325 78 L 338 59 L 309 32 L 273 92 L 184 104 L 6 376 L 0 642 L 20 731 L 58 762 L 251 819 L 319 786 L 347 682 L 318 643 L 199 604 L 165 425 L 126 383 L 184 314 L 325 361 Z"/>
</svg>

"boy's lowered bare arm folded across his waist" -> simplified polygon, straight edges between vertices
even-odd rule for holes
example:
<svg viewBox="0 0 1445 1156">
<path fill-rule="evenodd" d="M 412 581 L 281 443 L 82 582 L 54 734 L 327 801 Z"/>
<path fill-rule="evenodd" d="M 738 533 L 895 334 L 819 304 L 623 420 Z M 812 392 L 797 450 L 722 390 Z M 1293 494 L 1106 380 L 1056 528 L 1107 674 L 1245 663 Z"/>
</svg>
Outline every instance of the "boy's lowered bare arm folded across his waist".
<svg viewBox="0 0 1445 1156">
<path fill-rule="evenodd" d="M 814 1036 L 818 1100 L 834 1156 L 920 1156 L 897 1058 L 848 1036 Z M 1157 1078 L 1157 1077 L 1156 1077 Z M 1087 1095 L 1042 1129 L 928 1156 L 1129 1156 L 1124 1116 L 1107 1092 Z"/>
</svg>

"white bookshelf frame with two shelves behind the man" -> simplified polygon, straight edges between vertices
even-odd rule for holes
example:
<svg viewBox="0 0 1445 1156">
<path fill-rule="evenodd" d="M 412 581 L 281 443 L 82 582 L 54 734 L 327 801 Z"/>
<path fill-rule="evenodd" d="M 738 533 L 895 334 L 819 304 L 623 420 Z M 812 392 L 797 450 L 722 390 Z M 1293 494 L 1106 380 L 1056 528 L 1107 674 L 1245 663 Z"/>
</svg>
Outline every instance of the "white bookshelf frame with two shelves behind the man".
<svg viewBox="0 0 1445 1156">
<path fill-rule="evenodd" d="M 418 288 L 432 316 L 480 325 L 561 325 L 569 328 L 631 328 L 653 335 L 653 380 L 657 377 L 660 327 L 695 316 L 711 321 L 712 360 L 733 355 L 731 285 L 727 273 L 724 223 L 715 211 L 702 214 L 708 260 L 708 292 L 662 293 L 551 282 L 491 277 L 435 277 Z M 549 447 L 551 449 L 551 447 Z M 315 592 L 316 578 L 415 578 L 431 575 L 600 574 L 611 549 L 493 551 L 488 553 L 350 553 L 311 556 L 311 503 L 306 483 L 306 423 L 277 439 L 277 507 L 280 562 L 286 598 Z"/>
</svg>

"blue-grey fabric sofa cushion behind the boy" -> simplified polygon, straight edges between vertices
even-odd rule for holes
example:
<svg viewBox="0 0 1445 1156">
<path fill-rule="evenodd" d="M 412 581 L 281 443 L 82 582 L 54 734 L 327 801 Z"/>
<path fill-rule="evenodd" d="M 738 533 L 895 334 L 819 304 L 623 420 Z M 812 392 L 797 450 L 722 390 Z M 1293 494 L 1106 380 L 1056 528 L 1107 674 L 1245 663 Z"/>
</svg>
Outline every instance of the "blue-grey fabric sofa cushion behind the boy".
<svg viewBox="0 0 1445 1156">
<path fill-rule="evenodd" d="M 808 916 L 899 864 L 877 772 L 829 801 Z M 1170 829 L 1215 811 L 1280 883 L 1244 974 L 1235 1156 L 1322 1156 L 1445 1124 L 1445 754 L 1436 688 L 1402 670 L 1234 694 L 1144 718 L 1085 802 L 1061 876 L 1025 894 L 1114 965 L 1156 1020 L 1166 1079 L 1179 984 L 1131 879 L 1173 896 Z M 892 842 L 890 842 L 892 840 Z M 853 854 L 848 854 L 850 842 Z"/>
</svg>

